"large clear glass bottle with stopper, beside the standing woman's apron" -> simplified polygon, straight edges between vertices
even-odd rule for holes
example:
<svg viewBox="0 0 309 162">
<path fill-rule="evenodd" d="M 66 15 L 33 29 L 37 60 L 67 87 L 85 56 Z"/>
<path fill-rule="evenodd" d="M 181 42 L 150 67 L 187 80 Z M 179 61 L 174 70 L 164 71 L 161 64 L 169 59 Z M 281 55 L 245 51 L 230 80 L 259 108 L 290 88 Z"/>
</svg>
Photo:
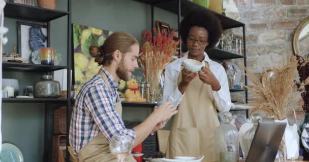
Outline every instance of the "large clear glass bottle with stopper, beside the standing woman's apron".
<svg viewBox="0 0 309 162">
<path fill-rule="evenodd" d="M 214 154 L 220 162 L 236 162 L 239 158 L 238 130 L 230 124 L 232 113 L 225 112 L 223 123 L 214 131 Z"/>
</svg>

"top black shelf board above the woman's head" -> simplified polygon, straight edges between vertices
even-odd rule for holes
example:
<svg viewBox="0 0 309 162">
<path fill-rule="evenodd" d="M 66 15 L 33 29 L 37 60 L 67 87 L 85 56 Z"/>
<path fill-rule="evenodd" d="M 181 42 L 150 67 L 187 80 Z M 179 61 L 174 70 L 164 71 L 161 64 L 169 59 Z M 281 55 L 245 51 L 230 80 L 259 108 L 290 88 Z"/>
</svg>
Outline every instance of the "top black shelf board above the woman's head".
<svg viewBox="0 0 309 162">
<path fill-rule="evenodd" d="M 175 0 L 135 0 L 135 1 L 138 1 L 138 2 L 141 2 L 141 3 L 144 3 L 144 4 L 148 4 L 148 5 L 154 5 L 160 9 L 163 9 L 163 10 L 166 10 L 166 11 L 169 11 L 171 13 L 174 13 L 174 14 L 178 14 L 178 1 L 175 1 Z M 202 6 L 199 6 L 193 2 L 190 2 L 188 0 L 180 0 L 180 11 L 181 11 L 181 16 L 186 16 L 188 14 L 188 12 L 190 12 L 191 10 L 193 9 L 204 9 L 204 10 L 209 10 L 209 9 L 206 9 Z M 212 11 L 211 11 L 212 12 Z M 214 15 L 216 15 L 219 20 L 221 21 L 221 24 L 222 24 L 222 27 L 223 29 L 230 29 L 230 28 L 235 28 L 235 27 L 241 27 L 243 26 L 244 24 L 239 22 L 239 21 L 236 21 L 236 20 L 233 20 L 231 18 L 228 18 L 224 15 L 221 15 L 221 14 L 218 14 L 218 13 L 215 13 L 215 12 L 212 12 L 214 13 Z"/>
</svg>

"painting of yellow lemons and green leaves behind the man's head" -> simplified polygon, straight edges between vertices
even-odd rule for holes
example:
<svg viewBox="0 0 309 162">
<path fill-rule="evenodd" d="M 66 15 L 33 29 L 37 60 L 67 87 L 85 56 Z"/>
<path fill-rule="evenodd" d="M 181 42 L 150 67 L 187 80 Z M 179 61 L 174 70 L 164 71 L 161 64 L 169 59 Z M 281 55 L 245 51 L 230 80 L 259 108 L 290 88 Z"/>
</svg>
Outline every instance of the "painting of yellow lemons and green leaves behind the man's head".
<svg viewBox="0 0 309 162">
<path fill-rule="evenodd" d="M 95 62 L 95 58 L 90 56 L 89 47 L 103 45 L 106 37 L 110 34 L 112 32 L 108 30 L 73 24 L 74 80 L 77 92 L 101 68 Z"/>
</svg>

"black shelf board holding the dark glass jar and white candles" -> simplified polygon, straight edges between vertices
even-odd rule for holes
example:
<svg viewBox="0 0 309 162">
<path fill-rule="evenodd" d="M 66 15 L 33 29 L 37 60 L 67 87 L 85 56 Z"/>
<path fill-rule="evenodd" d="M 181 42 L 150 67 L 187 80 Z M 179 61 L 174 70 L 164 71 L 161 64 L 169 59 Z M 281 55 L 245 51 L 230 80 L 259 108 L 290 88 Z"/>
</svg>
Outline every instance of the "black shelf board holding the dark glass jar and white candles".
<svg viewBox="0 0 309 162">
<path fill-rule="evenodd" d="M 44 102 L 66 102 L 68 99 L 58 99 L 58 98 L 2 98 L 3 103 L 44 103 Z"/>
</svg>

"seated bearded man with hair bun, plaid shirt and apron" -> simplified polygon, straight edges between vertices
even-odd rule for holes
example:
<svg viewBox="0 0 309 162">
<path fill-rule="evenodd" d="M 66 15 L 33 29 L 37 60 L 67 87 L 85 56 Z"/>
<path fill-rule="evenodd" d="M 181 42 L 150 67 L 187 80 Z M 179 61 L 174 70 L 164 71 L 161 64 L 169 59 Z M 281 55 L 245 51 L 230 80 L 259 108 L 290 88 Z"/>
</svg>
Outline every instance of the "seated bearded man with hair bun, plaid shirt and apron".
<svg viewBox="0 0 309 162">
<path fill-rule="evenodd" d="M 171 102 L 163 103 L 154 107 L 140 125 L 126 129 L 121 120 L 117 88 L 119 80 L 129 80 L 138 67 L 139 44 L 130 34 L 115 32 L 102 46 L 91 46 L 89 52 L 102 68 L 77 95 L 70 125 L 69 150 L 78 161 L 117 161 L 109 150 L 109 141 L 114 135 L 128 135 L 135 147 L 150 133 L 162 129 L 177 110 Z M 126 161 L 135 159 L 130 155 Z"/>
</svg>

